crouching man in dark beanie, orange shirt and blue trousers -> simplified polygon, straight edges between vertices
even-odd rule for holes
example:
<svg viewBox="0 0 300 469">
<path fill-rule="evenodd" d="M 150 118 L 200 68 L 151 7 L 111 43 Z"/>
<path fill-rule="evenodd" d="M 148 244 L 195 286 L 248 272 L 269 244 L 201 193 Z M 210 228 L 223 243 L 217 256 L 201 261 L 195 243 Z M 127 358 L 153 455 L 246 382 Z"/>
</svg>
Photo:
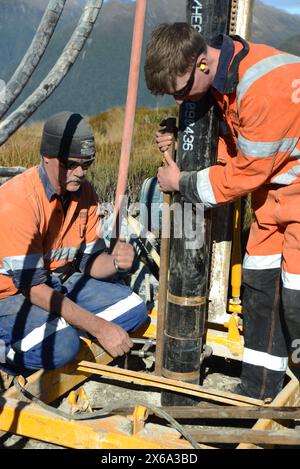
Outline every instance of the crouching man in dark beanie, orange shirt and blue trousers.
<svg viewBox="0 0 300 469">
<path fill-rule="evenodd" d="M 10 370 L 52 369 L 74 360 L 88 333 L 112 356 L 146 306 L 113 281 L 134 251 L 101 237 L 99 204 L 86 180 L 95 160 L 92 129 L 62 112 L 44 126 L 41 163 L 0 188 L 0 362 Z"/>
</svg>

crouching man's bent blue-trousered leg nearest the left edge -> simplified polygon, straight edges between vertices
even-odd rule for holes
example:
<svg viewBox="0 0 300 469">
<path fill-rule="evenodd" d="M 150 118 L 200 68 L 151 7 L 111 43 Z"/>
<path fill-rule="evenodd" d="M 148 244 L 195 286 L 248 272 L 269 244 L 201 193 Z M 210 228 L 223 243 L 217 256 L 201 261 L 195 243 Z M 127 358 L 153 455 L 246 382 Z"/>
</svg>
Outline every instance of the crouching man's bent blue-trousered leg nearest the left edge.
<svg viewBox="0 0 300 469">
<path fill-rule="evenodd" d="M 19 372 L 49 370 L 74 361 L 80 348 L 79 331 L 63 318 L 32 305 L 21 294 L 1 300 L 1 312 L 0 338 L 7 366 Z"/>
</svg>

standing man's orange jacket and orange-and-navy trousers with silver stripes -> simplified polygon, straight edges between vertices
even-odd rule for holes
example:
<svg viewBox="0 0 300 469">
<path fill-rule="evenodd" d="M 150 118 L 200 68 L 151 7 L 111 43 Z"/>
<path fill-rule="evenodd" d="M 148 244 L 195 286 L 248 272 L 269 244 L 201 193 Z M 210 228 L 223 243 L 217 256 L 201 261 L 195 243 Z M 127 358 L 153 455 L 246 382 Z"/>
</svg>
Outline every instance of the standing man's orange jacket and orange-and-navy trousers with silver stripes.
<svg viewBox="0 0 300 469">
<path fill-rule="evenodd" d="M 300 362 L 300 57 L 238 37 L 233 43 L 226 86 L 212 88 L 228 128 L 219 164 L 182 173 L 180 191 L 206 207 L 252 192 L 240 390 L 273 398 L 288 352 L 295 373 Z"/>
</svg>

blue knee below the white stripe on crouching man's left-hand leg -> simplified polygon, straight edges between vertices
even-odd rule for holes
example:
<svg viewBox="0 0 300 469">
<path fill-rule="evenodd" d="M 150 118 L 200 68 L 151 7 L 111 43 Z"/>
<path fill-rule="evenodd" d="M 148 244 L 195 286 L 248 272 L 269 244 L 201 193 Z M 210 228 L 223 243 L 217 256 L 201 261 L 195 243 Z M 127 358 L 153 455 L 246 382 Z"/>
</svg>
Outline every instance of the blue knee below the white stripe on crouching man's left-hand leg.
<svg viewBox="0 0 300 469">
<path fill-rule="evenodd" d="M 68 326 L 27 352 L 17 352 L 14 364 L 33 370 L 61 368 L 75 360 L 79 349 L 79 334 L 75 328 Z"/>
</svg>

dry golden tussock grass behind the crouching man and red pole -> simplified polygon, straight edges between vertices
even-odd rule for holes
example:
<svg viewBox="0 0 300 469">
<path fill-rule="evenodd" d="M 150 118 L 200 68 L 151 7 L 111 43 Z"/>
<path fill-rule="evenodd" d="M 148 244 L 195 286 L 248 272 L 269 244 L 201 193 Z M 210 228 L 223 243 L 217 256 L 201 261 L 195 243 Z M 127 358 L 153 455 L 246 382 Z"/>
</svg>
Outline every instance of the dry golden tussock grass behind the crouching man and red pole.
<svg viewBox="0 0 300 469">
<path fill-rule="evenodd" d="M 159 123 L 177 113 L 177 106 L 136 110 L 128 175 L 128 196 L 132 202 L 139 199 L 143 181 L 155 176 L 161 165 L 161 153 L 155 143 Z M 88 177 L 103 202 L 112 202 L 116 191 L 124 115 L 124 108 L 118 107 L 90 118 L 95 133 L 97 158 Z M 42 123 L 37 123 L 19 129 L 0 147 L 0 166 L 29 168 L 38 164 L 42 128 Z"/>
</svg>

